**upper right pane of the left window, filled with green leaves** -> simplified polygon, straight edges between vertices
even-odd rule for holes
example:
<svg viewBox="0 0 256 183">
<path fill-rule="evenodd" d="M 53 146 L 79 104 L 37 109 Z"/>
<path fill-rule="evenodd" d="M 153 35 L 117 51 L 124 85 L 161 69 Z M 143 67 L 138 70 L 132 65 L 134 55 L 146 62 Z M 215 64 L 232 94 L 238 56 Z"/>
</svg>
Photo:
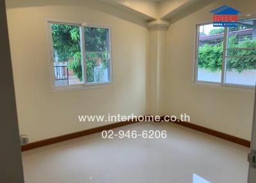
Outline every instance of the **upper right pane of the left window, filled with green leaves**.
<svg viewBox="0 0 256 183">
<path fill-rule="evenodd" d="M 85 51 L 108 52 L 109 29 L 85 27 Z"/>
</svg>

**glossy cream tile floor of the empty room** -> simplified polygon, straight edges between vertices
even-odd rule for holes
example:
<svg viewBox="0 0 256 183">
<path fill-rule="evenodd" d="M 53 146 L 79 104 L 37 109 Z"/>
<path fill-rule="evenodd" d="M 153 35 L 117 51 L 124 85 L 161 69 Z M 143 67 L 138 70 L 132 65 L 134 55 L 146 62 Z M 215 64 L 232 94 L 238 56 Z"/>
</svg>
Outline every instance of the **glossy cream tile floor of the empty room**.
<svg viewBox="0 0 256 183">
<path fill-rule="evenodd" d="M 26 183 L 246 183 L 248 148 L 172 123 L 118 130 L 166 130 L 166 139 L 93 134 L 22 153 Z"/>
</svg>

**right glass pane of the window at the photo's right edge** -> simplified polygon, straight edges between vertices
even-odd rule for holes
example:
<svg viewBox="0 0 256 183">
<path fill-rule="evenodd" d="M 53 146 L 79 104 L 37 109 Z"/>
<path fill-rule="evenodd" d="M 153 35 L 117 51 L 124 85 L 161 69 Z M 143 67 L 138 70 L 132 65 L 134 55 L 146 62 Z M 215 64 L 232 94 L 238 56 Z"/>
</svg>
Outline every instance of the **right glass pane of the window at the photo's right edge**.
<svg viewBox="0 0 256 183">
<path fill-rule="evenodd" d="M 256 82 L 256 19 L 228 29 L 225 83 L 254 86 Z"/>
</svg>

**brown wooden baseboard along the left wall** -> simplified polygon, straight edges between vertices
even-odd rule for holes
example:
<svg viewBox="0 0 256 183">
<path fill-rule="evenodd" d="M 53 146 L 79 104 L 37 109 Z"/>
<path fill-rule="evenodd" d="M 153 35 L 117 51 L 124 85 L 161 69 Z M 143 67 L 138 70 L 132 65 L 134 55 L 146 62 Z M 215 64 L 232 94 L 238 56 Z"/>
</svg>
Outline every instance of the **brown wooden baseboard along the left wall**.
<svg viewBox="0 0 256 183">
<path fill-rule="evenodd" d="M 122 127 L 122 126 L 125 126 L 125 125 L 131 125 L 132 123 L 138 123 L 140 121 L 136 120 L 136 119 L 133 119 L 133 120 L 129 120 L 129 121 L 126 121 L 126 122 L 111 123 L 109 125 L 96 127 L 96 128 L 93 128 L 93 129 L 74 132 L 74 133 L 71 133 L 71 134 L 66 134 L 66 135 L 58 136 L 58 137 L 54 137 L 54 138 L 43 139 L 41 141 L 35 141 L 33 143 L 28 143 L 27 145 L 23 145 L 21 147 L 21 151 L 31 150 L 33 148 L 38 148 L 38 147 L 44 147 L 44 146 L 51 145 L 51 144 L 54 144 L 54 143 L 59 143 L 61 141 L 67 141 L 69 139 L 79 138 L 79 137 L 82 137 L 82 136 L 88 136 L 90 134 L 95 134 L 97 132 L 108 131 L 110 129 L 115 129 L 115 128 Z"/>
</svg>

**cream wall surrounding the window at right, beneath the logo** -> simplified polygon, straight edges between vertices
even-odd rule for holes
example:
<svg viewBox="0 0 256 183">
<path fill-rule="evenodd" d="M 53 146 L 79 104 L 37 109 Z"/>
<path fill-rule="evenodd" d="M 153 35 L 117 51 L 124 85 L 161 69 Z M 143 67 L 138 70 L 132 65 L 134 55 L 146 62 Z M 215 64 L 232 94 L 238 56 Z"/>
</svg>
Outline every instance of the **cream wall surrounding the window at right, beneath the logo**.
<svg viewBox="0 0 256 183">
<path fill-rule="evenodd" d="M 250 139 L 253 92 L 193 84 L 195 25 L 211 22 L 209 12 L 223 4 L 242 13 L 256 10 L 255 0 L 216 1 L 170 26 L 161 107 L 166 115 L 187 113 L 191 123 Z"/>
</svg>

